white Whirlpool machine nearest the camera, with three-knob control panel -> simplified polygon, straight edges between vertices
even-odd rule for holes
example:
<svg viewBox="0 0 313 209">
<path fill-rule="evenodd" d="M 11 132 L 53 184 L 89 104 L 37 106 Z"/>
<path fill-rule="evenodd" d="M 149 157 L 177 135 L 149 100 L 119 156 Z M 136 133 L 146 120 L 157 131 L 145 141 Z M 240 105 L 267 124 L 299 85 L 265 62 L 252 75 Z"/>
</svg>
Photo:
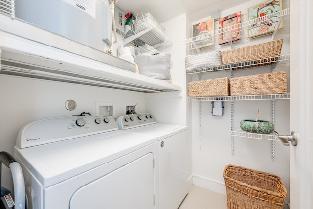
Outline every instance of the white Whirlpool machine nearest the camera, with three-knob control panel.
<svg viewBox="0 0 313 209">
<path fill-rule="evenodd" d="M 111 116 L 23 127 L 14 147 L 30 209 L 158 208 L 158 138 L 125 133 Z"/>
</svg>

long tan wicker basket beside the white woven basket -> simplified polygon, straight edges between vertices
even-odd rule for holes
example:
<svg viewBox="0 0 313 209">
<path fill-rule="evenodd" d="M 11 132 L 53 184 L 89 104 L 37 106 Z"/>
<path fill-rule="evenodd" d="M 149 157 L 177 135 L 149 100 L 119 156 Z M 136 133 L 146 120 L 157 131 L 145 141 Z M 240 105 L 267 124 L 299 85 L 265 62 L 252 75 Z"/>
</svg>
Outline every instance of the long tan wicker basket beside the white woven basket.
<svg viewBox="0 0 313 209">
<path fill-rule="evenodd" d="M 250 60 L 271 58 L 268 61 L 266 60 L 266 62 L 270 62 L 270 60 L 273 61 L 272 57 L 280 56 L 282 45 L 283 39 L 279 39 L 263 44 L 222 51 L 222 63 L 223 65 L 226 65 L 230 63 L 240 63 Z"/>
</svg>

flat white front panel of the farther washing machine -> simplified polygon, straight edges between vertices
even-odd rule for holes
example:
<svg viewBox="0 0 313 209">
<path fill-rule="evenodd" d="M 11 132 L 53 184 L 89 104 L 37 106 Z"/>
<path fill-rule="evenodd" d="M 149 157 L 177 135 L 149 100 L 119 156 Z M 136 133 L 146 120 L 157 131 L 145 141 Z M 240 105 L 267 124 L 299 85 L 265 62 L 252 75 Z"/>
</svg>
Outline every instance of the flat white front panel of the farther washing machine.
<svg viewBox="0 0 313 209">
<path fill-rule="evenodd" d="M 187 131 L 159 141 L 159 208 L 177 209 L 188 193 Z"/>
</svg>

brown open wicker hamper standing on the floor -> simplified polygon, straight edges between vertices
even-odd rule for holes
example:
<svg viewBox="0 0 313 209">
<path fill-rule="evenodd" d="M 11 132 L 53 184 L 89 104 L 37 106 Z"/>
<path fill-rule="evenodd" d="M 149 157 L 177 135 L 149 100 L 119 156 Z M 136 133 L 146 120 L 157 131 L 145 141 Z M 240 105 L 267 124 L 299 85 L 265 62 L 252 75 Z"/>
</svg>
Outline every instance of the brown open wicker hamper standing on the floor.
<svg viewBox="0 0 313 209">
<path fill-rule="evenodd" d="M 282 209 L 287 195 L 283 181 L 273 174 L 235 165 L 223 172 L 228 209 Z"/>
</svg>

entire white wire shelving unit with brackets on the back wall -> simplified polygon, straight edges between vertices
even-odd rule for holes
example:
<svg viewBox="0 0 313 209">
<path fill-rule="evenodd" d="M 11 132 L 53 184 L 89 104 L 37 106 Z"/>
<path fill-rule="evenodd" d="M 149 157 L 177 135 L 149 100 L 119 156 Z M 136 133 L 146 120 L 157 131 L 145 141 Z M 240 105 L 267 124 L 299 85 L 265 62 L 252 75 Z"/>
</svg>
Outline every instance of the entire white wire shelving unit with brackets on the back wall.
<svg viewBox="0 0 313 209">
<path fill-rule="evenodd" d="M 260 18 L 255 18 L 246 22 L 238 23 L 223 29 L 218 29 L 215 31 L 207 32 L 196 37 L 192 37 L 182 41 L 182 44 L 187 46 L 187 49 L 195 49 L 198 53 L 202 50 L 207 50 L 213 48 L 214 50 L 223 50 L 224 46 L 233 45 L 237 43 L 250 42 L 251 39 L 272 35 L 272 40 L 275 40 L 277 32 L 281 33 L 287 31 L 289 33 L 289 19 L 290 19 L 290 9 L 284 9 L 279 12 L 265 15 Z M 229 41 L 225 42 L 223 39 L 228 38 Z M 242 70 L 248 68 L 256 68 L 262 66 L 272 67 L 272 72 L 279 64 L 286 64 L 290 60 L 290 55 L 280 55 L 276 57 L 267 57 L 258 60 L 249 60 L 245 62 L 232 63 L 227 65 L 202 68 L 196 70 L 187 70 L 186 75 L 197 74 L 201 78 L 202 73 L 206 72 L 216 72 L 221 70 L 230 70 L 231 77 L 233 77 L 233 70 Z M 267 95 L 240 95 L 240 96 L 215 96 L 215 97 L 187 97 L 187 102 L 205 102 L 205 101 L 231 101 L 231 153 L 234 154 L 234 136 L 253 138 L 253 139 L 265 139 L 272 142 L 271 148 L 271 158 L 275 160 L 275 141 L 280 141 L 277 139 L 278 134 L 274 132 L 272 134 L 256 134 L 242 131 L 241 129 L 234 128 L 233 125 L 233 102 L 234 101 L 249 101 L 249 100 L 271 100 L 272 101 L 272 118 L 274 120 L 275 116 L 275 100 L 279 99 L 290 99 L 290 94 L 267 94 Z M 201 116 L 201 111 L 199 111 Z M 274 121 L 273 121 L 274 122 Z M 201 127 L 200 127 L 201 134 Z M 201 136 L 200 136 L 201 137 Z M 286 144 L 284 144 L 286 145 Z M 201 140 L 200 140 L 201 147 Z"/>
</svg>

